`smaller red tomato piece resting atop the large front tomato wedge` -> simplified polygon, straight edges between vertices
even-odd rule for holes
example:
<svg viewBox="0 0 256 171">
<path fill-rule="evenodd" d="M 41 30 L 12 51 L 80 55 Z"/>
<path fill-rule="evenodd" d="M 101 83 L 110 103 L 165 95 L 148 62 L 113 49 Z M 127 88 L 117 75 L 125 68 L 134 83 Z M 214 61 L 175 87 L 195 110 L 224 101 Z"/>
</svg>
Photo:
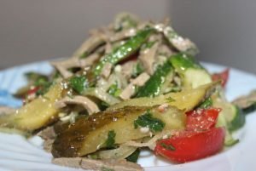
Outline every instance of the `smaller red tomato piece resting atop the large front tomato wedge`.
<svg viewBox="0 0 256 171">
<path fill-rule="evenodd" d="M 217 123 L 218 108 L 197 109 L 187 112 L 186 129 L 191 131 L 205 130 L 213 128 Z"/>
</svg>

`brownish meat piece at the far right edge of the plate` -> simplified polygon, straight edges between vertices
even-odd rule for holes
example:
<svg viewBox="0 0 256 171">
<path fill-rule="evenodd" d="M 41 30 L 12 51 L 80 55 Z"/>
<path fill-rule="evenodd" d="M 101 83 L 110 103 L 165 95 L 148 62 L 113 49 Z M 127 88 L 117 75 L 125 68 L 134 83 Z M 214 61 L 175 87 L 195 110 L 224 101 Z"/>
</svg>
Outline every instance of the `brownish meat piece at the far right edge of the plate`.
<svg viewBox="0 0 256 171">
<path fill-rule="evenodd" d="M 236 100 L 234 100 L 232 103 L 235 105 L 238 105 L 241 108 L 247 108 L 250 105 L 253 105 L 253 103 L 256 102 L 256 90 L 252 91 L 250 94 L 243 95 Z"/>
</svg>

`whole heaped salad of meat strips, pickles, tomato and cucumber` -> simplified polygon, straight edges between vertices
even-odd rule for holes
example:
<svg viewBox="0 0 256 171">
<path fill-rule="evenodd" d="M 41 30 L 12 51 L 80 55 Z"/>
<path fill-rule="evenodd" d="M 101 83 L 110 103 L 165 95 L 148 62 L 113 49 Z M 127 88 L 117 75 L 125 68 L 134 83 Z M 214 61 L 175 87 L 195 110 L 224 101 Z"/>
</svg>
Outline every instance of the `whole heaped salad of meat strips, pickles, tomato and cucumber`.
<svg viewBox="0 0 256 171">
<path fill-rule="evenodd" d="M 197 53 L 168 20 L 118 14 L 72 57 L 51 61 L 51 75 L 26 73 L 14 94 L 24 105 L 0 107 L 0 128 L 41 136 L 52 162 L 73 168 L 143 170 L 142 149 L 174 163 L 212 156 L 239 142 L 232 133 L 256 95 L 227 101 L 229 70 L 209 73 Z"/>
</svg>

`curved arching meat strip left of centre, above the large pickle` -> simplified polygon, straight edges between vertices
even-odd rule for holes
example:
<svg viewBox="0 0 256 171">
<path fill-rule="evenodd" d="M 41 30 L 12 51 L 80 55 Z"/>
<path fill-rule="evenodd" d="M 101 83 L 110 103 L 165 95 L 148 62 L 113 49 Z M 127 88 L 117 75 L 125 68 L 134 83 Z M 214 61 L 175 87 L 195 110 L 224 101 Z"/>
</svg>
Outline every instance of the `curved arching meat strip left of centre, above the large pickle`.
<svg viewBox="0 0 256 171">
<path fill-rule="evenodd" d="M 88 111 L 89 115 L 96 113 L 99 110 L 98 106 L 90 99 L 84 96 L 74 96 L 73 99 L 65 97 L 62 100 L 55 102 L 56 108 L 65 107 L 67 104 L 82 105 Z"/>
</svg>

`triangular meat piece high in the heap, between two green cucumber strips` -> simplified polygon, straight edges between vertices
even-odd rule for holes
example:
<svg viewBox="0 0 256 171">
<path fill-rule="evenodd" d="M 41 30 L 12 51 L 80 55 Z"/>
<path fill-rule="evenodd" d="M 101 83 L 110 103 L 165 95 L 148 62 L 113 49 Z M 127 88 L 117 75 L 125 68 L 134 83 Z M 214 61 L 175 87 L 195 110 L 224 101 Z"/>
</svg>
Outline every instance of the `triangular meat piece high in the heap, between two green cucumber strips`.
<svg viewBox="0 0 256 171">
<path fill-rule="evenodd" d="M 151 48 L 146 48 L 140 52 L 138 57 L 139 60 L 142 61 L 143 67 L 148 72 L 148 74 L 152 75 L 154 73 L 154 62 L 155 56 L 158 49 L 159 43 L 154 43 Z"/>
</svg>

